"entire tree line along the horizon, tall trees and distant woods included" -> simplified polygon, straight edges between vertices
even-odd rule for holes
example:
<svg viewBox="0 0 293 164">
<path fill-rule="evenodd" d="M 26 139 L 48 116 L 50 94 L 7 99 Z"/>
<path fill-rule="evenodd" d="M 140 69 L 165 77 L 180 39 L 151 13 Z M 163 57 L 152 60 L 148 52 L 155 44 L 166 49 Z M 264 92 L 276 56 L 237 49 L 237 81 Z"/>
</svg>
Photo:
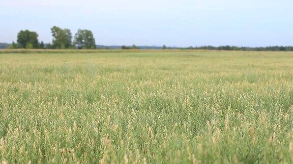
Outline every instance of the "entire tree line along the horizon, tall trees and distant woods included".
<svg viewBox="0 0 293 164">
<path fill-rule="evenodd" d="M 70 29 L 53 26 L 51 28 L 52 43 L 39 42 L 38 33 L 30 30 L 21 30 L 17 34 L 17 43 L 13 42 L 10 49 L 96 49 L 96 41 L 91 30 L 78 29 L 72 38 Z M 6 45 L 3 45 L 6 46 Z M 104 46 L 105 49 L 109 47 Z M 121 49 L 152 49 L 143 46 L 122 46 Z M 227 51 L 293 51 L 292 46 L 270 46 L 270 47 L 237 47 L 237 46 L 201 46 L 201 47 L 155 47 L 155 49 L 187 49 L 187 50 L 227 50 Z"/>
</svg>

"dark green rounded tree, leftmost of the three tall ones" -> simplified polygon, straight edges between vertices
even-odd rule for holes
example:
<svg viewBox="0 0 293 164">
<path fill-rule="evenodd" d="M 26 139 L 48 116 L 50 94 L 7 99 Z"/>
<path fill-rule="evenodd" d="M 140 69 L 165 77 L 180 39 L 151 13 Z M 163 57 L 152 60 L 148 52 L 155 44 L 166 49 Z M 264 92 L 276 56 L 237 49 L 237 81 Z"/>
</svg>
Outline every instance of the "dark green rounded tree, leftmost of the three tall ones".
<svg viewBox="0 0 293 164">
<path fill-rule="evenodd" d="M 17 34 L 17 43 L 20 48 L 26 48 L 27 44 L 31 44 L 33 48 L 38 48 L 38 36 L 37 32 L 21 30 Z"/>
</svg>

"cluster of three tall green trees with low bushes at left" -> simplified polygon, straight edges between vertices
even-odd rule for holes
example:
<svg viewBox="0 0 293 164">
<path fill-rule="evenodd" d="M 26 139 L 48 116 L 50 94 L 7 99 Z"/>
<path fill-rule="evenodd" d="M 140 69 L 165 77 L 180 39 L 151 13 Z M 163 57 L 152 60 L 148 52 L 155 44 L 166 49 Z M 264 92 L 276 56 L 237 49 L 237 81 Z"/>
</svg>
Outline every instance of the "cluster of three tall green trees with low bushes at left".
<svg viewBox="0 0 293 164">
<path fill-rule="evenodd" d="M 53 26 L 52 44 L 39 42 L 38 33 L 30 30 L 21 30 L 17 34 L 17 43 L 12 43 L 10 49 L 96 49 L 96 41 L 91 30 L 78 29 L 72 40 L 70 29 Z"/>
</svg>

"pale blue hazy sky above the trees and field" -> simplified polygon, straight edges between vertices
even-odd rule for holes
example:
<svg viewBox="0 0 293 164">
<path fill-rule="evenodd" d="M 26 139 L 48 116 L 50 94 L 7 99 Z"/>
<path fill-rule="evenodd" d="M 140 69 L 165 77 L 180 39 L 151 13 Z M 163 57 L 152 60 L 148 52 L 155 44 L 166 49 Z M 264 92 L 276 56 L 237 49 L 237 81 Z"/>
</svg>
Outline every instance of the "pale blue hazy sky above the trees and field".
<svg viewBox="0 0 293 164">
<path fill-rule="evenodd" d="M 50 43 L 54 25 L 97 45 L 293 46 L 292 0 L 0 0 L 0 43 L 22 29 Z"/>
</svg>

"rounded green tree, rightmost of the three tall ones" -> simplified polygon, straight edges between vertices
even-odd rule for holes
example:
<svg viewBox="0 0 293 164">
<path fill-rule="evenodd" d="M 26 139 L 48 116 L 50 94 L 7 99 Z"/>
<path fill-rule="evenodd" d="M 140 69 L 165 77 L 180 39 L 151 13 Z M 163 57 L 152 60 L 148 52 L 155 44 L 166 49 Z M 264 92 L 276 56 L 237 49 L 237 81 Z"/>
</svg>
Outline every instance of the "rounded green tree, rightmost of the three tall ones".
<svg viewBox="0 0 293 164">
<path fill-rule="evenodd" d="M 78 49 L 96 49 L 96 41 L 91 30 L 79 29 L 74 36 L 74 44 Z"/>
</svg>

